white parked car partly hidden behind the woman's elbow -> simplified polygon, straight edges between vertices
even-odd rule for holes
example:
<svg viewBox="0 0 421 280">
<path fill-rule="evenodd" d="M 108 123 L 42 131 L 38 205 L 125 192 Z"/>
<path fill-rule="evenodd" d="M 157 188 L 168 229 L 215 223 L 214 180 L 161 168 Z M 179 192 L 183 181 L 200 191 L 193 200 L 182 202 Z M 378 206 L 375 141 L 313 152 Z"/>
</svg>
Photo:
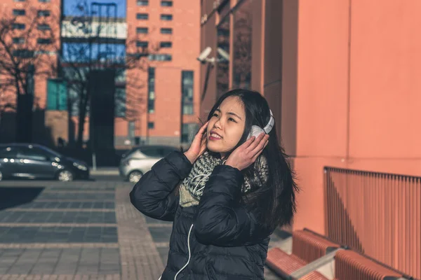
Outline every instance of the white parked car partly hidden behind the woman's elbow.
<svg viewBox="0 0 421 280">
<path fill-rule="evenodd" d="M 148 172 L 152 165 L 175 150 L 178 149 L 158 145 L 135 147 L 122 155 L 119 166 L 120 176 L 131 183 L 138 183 L 140 177 Z"/>
</svg>

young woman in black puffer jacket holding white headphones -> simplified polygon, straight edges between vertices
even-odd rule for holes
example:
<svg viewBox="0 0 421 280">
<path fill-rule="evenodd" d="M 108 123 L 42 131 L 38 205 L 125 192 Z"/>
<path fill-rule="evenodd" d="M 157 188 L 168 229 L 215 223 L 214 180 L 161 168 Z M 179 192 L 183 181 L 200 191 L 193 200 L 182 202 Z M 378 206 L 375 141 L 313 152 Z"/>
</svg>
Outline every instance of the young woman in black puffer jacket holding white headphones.
<svg viewBox="0 0 421 280">
<path fill-rule="evenodd" d="M 265 98 L 232 90 L 188 151 L 157 162 L 130 197 L 173 221 L 162 280 L 244 280 L 264 279 L 269 236 L 292 220 L 296 190 Z"/>
</svg>

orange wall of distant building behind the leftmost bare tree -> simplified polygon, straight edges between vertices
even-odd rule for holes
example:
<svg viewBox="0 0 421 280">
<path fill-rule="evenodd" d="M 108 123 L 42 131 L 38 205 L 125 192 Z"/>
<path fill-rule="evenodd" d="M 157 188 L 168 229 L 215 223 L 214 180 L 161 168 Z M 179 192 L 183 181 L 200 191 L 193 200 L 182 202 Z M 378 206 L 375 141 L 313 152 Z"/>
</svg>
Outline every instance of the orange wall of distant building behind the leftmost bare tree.
<svg viewBox="0 0 421 280">
<path fill-rule="evenodd" d="M 29 40 L 34 40 L 30 45 L 34 45 L 37 38 L 55 38 L 51 45 L 46 45 L 42 49 L 55 52 L 60 44 L 60 0 L 51 0 L 49 3 L 41 3 L 37 0 L 27 0 L 25 2 L 15 2 L 13 0 L 4 0 L 0 4 L 0 12 L 4 18 L 13 18 L 13 9 L 25 10 L 26 15 L 18 16 L 16 22 L 24 23 L 26 25 L 25 32 L 29 25 L 33 24 L 36 17 L 37 10 L 50 10 L 51 15 L 48 18 L 40 20 L 43 23 L 48 23 L 52 29 L 52 33 L 36 30 L 34 27 L 31 32 L 32 37 Z M 18 34 L 18 32 L 16 32 Z M 39 50 L 36 48 L 35 50 Z M 47 92 L 47 78 L 48 76 L 55 76 L 53 69 L 56 68 L 57 55 L 44 54 L 39 55 L 39 58 L 34 60 L 36 62 L 36 73 L 43 73 L 42 75 L 34 76 L 34 114 L 33 114 L 33 133 L 32 139 L 41 144 L 52 145 L 55 144 L 58 137 L 67 139 L 67 130 L 63 130 L 62 123 L 67 123 L 67 116 L 58 111 L 46 111 L 46 92 Z M 1 92 L 0 94 L 0 108 L 4 103 L 11 103 L 15 105 L 16 94 L 13 89 L 10 92 Z M 9 111 L 8 118 L 2 120 L 2 130 L 4 135 L 2 141 L 15 141 L 15 116 Z M 13 116 L 12 116 L 13 115 Z"/>
</svg>

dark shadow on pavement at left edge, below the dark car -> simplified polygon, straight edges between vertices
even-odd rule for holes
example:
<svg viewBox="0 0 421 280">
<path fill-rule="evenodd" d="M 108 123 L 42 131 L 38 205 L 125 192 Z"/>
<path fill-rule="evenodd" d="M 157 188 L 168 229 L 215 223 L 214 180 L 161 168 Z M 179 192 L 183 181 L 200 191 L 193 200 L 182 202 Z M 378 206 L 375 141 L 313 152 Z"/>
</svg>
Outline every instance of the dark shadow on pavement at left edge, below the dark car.
<svg viewBox="0 0 421 280">
<path fill-rule="evenodd" d="M 32 202 L 44 188 L 0 187 L 0 211 Z"/>
</svg>

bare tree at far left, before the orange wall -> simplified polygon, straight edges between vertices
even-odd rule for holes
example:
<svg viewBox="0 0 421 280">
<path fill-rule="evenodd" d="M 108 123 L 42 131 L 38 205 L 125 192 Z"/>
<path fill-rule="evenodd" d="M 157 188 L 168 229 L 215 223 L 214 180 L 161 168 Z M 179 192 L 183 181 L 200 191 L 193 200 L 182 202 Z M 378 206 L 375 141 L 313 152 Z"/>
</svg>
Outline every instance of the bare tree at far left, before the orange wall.
<svg viewBox="0 0 421 280">
<path fill-rule="evenodd" d="M 0 109 L 15 111 L 16 141 L 31 141 L 34 79 L 53 75 L 53 17 L 27 6 L 1 12 Z"/>
</svg>

